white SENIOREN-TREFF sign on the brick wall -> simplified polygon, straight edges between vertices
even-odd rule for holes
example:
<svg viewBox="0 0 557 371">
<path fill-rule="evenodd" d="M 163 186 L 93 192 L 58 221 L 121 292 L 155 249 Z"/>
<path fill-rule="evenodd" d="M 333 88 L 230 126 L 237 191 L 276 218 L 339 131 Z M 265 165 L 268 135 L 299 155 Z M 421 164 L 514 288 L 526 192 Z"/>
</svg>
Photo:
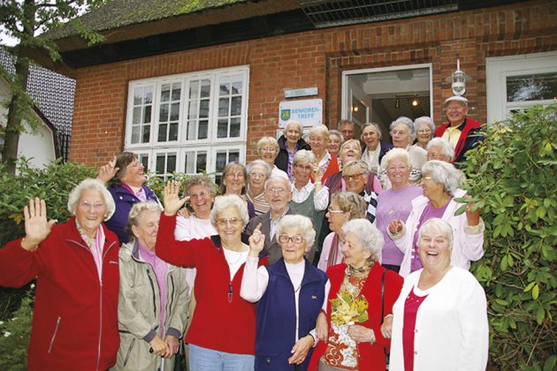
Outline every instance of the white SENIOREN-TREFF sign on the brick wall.
<svg viewBox="0 0 557 371">
<path fill-rule="evenodd" d="M 302 126 L 322 124 L 323 99 L 280 102 L 279 127 L 285 127 L 288 121 L 297 121 Z"/>
</svg>

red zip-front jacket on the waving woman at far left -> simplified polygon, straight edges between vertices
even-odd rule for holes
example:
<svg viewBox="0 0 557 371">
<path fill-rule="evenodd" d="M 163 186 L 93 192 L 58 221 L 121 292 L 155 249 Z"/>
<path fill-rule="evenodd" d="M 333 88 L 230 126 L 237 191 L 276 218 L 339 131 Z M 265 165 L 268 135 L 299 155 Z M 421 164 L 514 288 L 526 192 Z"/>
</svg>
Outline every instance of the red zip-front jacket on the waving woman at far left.
<svg viewBox="0 0 557 371">
<path fill-rule="evenodd" d="M 37 280 L 29 370 L 105 370 L 116 362 L 118 238 L 103 230 L 102 283 L 75 218 L 55 225 L 34 252 L 21 239 L 0 249 L 0 285 Z"/>
</svg>

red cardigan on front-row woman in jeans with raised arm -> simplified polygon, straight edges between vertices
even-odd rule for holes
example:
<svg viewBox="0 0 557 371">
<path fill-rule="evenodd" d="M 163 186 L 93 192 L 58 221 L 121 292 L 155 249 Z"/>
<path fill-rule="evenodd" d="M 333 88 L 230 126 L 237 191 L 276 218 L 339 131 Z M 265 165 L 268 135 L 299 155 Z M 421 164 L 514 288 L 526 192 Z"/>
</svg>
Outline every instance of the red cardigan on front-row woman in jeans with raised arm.
<svg viewBox="0 0 557 371">
<path fill-rule="evenodd" d="M 175 227 L 176 216 L 162 213 L 155 251 L 173 265 L 197 269 L 194 286 L 197 303 L 185 341 L 219 352 L 255 354 L 256 304 L 240 297 L 244 265 L 231 282 L 218 236 L 177 241 Z M 259 265 L 262 264 L 267 264 L 266 257 L 259 260 Z"/>
</svg>

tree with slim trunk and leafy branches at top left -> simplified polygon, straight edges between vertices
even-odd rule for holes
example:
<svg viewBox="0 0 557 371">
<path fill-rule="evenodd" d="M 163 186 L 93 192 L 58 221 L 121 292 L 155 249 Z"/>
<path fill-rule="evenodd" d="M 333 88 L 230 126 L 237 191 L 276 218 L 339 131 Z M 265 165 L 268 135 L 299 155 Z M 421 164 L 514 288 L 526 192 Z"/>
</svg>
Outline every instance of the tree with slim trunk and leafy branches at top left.
<svg viewBox="0 0 557 371">
<path fill-rule="evenodd" d="M 75 17 L 81 11 L 103 3 L 104 0 L 6 0 L 0 2 L 0 21 L 4 32 L 18 41 L 14 47 L 3 47 L 14 58 L 15 66 L 13 74 L 6 71 L 1 73 L 11 89 L 10 102 L 5 102 L 8 114 L 3 133 L 2 162 L 6 164 L 4 170 L 12 174 L 15 172 L 19 133 L 24 130 L 22 120 L 26 120 L 32 129 L 38 125 L 38 120 L 34 118 L 33 113 L 34 102 L 26 93 L 29 66 L 34 62 L 27 57 L 28 50 L 45 51 L 53 61 L 57 61 L 60 54 L 56 42 L 42 37 L 40 34 L 68 21 L 89 44 L 102 42 L 103 36 L 83 27 L 80 20 Z"/>
</svg>

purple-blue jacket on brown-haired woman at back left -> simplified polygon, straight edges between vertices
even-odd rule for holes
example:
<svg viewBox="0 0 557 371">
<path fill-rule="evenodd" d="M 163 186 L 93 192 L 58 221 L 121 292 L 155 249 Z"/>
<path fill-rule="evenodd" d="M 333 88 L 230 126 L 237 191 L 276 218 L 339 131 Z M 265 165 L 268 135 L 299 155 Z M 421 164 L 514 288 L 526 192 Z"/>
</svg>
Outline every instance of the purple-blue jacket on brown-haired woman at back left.
<svg viewBox="0 0 557 371">
<path fill-rule="evenodd" d="M 145 195 L 147 196 L 147 200 L 157 201 L 156 194 L 151 191 L 148 186 L 141 186 L 143 191 L 145 191 Z M 116 210 L 111 218 L 105 222 L 107 228 L 118 236 L 120 240 L 120 244 L 126 244 L 128 242 L 126 226 L 127 226 L 127 219 L 130 215 L 130 210 L 134 206 L 135 203 L 141 202 L 140 199 L 135 197 L 133 193 L 129 191 L 125 186 L 118 185 L 118 186 L 109 186 L 108 191 L 112 195 L 112 199 L 114 199 L 114 203 L 116 204 Z"/>
</svg>

